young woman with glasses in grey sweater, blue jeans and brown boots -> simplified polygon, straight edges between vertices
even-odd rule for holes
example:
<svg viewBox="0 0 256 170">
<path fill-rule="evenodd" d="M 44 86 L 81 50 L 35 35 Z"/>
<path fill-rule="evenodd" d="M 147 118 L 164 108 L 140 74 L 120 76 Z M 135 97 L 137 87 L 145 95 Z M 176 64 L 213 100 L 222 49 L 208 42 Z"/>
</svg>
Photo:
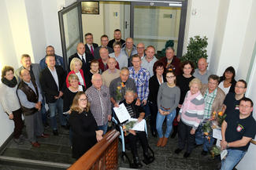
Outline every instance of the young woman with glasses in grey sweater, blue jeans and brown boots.
<svg viewBox="0 0 256 170">
<path fill-rule="evenodd" d="M 180 101 L 180 88 L 176 86 L 176 76 L 173 71 L 166 72 L 167 82 L 160 85 L 158 90 L 158 115 L 157 115 L 157 146 L 165 146 L 173 128 L 173 119 L 176 116 L 176 107 Z M 162 132 L 162 124 L 166 117 L 165 136 Z"/>
</svg>

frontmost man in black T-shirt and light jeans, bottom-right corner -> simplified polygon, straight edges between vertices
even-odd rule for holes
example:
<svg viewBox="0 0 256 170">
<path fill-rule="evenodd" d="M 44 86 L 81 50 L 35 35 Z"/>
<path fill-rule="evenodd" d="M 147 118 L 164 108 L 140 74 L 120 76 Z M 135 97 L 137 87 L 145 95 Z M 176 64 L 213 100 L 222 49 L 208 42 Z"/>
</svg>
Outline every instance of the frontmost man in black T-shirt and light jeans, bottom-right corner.
<svg viewBox="0 0 256 170">
<path fill-rule="evenodd" d="M 247 153 L 250 140 L 256 133 L 256 122 L 251 115 L 254 103 L 244 97 L 240 100 L 239 110 L 228 114 L 221 125 L 221 149 L 228 151 L 221 161 L 221 170 L 233 169 Z"/>
</svg>

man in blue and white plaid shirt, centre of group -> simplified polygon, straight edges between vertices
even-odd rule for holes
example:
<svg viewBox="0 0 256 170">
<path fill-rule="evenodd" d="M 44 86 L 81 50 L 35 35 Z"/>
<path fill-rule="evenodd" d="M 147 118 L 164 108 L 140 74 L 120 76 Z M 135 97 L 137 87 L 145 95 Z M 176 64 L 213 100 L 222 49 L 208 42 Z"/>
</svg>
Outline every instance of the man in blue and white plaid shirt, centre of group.
<svg viewBox="0 0 256 170">
<path fill-rule="evenodd" d="M 141 67 L 141 59 L 139 55 L 132 56 L 132 65 L 133 67 L 129 67 L 129 77 L 135 81 L 138 98 L 140 99 L 141 104 L 146 112 L 145 117 L 147 117 L 150 114 L 150 109 L 147 104 L 150 73 Z"/>
</svg>

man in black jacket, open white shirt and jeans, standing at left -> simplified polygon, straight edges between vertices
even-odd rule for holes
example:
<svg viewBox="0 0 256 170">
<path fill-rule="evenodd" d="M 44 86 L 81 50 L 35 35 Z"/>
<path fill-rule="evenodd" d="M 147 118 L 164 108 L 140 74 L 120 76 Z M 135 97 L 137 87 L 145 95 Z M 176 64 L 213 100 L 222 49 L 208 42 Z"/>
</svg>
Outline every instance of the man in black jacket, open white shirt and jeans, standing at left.
<svg viewBox="0 0 256 170">
<path fill-rule="evenodd" d="M 63 100 L 61 99 L 65 88 L 65 71 L 61 66 L 55 65 L 54 56 L 46 56 L 46 64 L 47 67 L 40 73 L 39 81 L 49 107 L 51 128 L 53 128 L 54 136 L 58 136 L 56 110 L 58 110 L 61 126 L 66 127 L 67 124 L 63 115 Z"/>
</svg>

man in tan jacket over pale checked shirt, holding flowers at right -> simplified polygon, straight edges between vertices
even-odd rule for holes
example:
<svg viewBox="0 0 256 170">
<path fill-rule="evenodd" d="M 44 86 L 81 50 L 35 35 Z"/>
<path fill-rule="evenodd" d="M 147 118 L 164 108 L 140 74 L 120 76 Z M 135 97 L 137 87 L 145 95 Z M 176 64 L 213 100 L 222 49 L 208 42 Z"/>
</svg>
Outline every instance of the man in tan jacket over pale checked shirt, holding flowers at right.
<svg viewBox="0 0 256 170">
<path fill-rule="evenodd" d="M 203 122 L 210 119 L 211 114 L 213 111 L 221 111 L 222 104 L 224 101 L 225 94 L 224 92 L 218 87 L 220 78 L 217 75 L 210 75 L 208 78 L 208 84 L 202 85 L 202 89 L 200 90 L 202 93 L 203 98 L 205 99 L 205 109 L 204 109 L 204 116 Z M 203 145 L 202 147 L 202 155 L 206 155 L 210 148 L 213 146 L 214 139 L 211 136 L 210 142 L 206 137 L 202 136 L 202 124 L 199 125 L 197 131 L 195 132 L 195 143 L 196 146 Z"/>
</svg>

